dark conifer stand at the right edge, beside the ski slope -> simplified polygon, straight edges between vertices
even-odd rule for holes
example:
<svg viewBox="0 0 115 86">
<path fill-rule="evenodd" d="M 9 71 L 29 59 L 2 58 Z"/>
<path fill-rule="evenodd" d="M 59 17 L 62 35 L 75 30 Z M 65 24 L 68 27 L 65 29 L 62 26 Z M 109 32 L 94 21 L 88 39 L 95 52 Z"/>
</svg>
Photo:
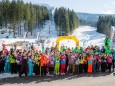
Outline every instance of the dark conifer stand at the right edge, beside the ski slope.
<svg viewBox="0 0 115 86">
<path fill-rule="evenodd" d="M 110 37 L 111 26 L 115 26 L 115 17 L 99 16 L 99 19 L 97 22 L 97 32 L 106 34 Z"/>
</svg>

